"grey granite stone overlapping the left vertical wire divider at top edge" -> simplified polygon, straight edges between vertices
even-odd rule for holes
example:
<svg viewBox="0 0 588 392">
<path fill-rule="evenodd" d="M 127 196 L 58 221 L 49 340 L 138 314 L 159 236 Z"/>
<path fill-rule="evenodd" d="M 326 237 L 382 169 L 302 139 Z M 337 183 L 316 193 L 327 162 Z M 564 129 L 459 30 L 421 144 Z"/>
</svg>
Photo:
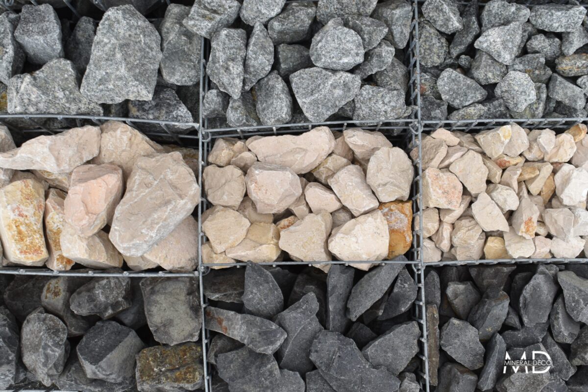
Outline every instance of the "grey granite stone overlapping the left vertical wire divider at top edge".
<svg viewBox="0 0 588 392">
<path fill-rule="evenodd" d="M 233 24 L 240 8 L 236 0 L 196 0 L 183 24 L 190 31 L 211 39 L 217 31 Z"/>
</svg>

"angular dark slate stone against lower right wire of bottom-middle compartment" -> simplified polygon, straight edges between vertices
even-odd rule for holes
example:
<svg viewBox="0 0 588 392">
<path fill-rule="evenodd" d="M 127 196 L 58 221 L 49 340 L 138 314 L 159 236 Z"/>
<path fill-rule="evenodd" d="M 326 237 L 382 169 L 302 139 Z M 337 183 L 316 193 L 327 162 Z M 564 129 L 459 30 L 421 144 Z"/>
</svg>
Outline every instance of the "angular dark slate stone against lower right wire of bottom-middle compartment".
<svg viewBox="0 0 588 392">
<path fill-rule="evenodd" d="M 363 356 L 374 366 L 385 366 L 397 376 L 419 352 L 420 329 L 416 321 L 398 324 L 363 347 Z"/>
</svg>

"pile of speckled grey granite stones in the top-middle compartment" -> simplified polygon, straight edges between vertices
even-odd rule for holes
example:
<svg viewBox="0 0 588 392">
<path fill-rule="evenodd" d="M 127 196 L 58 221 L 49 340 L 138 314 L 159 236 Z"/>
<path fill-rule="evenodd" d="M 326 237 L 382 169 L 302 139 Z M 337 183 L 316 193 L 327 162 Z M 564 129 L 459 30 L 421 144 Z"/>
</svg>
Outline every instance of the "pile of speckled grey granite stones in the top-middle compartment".
<svg viewBox="0 0 588 392">
<path fill-rule="evenodd" d="M 209 128 L 406 118 L 412 16 L 407 0 L 196 0 L 183 25 L 211 40 L 203 117 Z"/>
</svg>

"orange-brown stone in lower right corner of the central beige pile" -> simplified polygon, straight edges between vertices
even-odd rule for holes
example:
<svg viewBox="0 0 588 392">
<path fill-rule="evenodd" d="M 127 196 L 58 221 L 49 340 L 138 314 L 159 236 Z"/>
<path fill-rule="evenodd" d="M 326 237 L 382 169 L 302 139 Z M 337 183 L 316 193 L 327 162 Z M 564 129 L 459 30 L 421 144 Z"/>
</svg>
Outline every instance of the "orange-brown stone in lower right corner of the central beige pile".
<svg viewBox="0 0 588 392">
<path fill-rule="evenodd" d="M 392 260 L 408 252 L 412 245 L 412 202 L 382 203 L 378 209 L 386 219 L 390 235 L 386 260 Z"/>
</svg>

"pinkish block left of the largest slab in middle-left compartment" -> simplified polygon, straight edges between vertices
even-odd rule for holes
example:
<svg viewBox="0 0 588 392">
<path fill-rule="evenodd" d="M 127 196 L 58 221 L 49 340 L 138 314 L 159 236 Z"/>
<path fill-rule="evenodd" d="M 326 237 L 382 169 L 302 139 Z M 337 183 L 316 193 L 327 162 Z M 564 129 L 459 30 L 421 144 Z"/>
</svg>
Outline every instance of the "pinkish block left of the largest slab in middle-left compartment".
<svg viewBox="0 0 588 392">
<path fill-rule="evenodd" d="M 65 220 L 78 235 L 93 236 L 112 223 L 123 190 L 122 170 L 112 163 L 82 165 L 72 172 Z"/>
</svg>

